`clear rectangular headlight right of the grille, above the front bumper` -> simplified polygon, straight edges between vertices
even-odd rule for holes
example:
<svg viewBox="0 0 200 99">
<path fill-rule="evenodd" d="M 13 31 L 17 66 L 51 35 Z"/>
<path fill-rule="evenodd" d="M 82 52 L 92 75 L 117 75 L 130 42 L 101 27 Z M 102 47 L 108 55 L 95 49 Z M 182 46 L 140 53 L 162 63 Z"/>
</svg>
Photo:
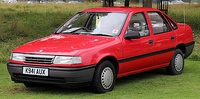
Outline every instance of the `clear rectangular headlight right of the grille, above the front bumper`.
<svg viewBox="0 0 200 99">
<path fill-rule="evenodd" d="M 68 57 L 68 56 L 56 56 L 54 64 L 80 64 L 82 63 L 81 57 Z"/>
</svg>

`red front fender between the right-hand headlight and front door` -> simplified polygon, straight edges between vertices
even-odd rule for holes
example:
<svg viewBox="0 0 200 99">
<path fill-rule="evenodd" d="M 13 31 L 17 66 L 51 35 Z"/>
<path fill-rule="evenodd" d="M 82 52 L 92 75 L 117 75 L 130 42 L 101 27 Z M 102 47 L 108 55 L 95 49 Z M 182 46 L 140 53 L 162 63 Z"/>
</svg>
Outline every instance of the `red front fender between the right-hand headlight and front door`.
<svg viewBox="0 0 200 99">
<path fill-rule="evenodd" d="M 118 37 L 112 39 L 113 40 L 108 40 L 108 42 L 99 44 L 92 48 L 81 50 L 79 53 L 76 54 L 76 56 L 82 57 L 82 65 L 73 66 L 96 65 L 107 56 L 112 56 L 116 59 L 121 59 L 121 41 Z"/>
</svg>

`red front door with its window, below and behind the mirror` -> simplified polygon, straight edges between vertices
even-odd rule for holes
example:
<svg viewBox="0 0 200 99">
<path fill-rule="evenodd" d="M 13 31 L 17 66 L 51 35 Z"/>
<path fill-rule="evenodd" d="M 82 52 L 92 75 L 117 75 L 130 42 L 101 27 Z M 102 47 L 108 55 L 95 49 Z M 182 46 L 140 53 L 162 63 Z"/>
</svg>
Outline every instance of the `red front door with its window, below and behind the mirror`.
<svg viewBox="0 0 200 99">
<path fill-rule="evenodd" d="M 124 59 L 121 62 L 124 63 L 124 73 L 145 71 L 145 68 L 152 66 L 154 61 L 154 56 L 151 55 L 154 52 L 154 38 L 149 31 L 145 14 L 133 14 L 127 31 L 139 32 L 140 38 L 123 40 Z"/>
</svg>

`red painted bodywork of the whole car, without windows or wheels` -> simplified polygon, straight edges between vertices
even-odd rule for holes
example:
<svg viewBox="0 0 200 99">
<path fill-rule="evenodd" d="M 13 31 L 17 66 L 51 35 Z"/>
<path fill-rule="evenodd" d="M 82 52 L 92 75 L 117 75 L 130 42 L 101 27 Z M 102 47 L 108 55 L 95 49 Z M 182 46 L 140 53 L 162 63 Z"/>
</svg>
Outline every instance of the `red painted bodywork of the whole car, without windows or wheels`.
<svg viewBox="0 0 200 99">
<path fill-rule="evenodd" d="M 154 34 L 148 12 L 158 12 L 168 17 L 163 12 L 152 8 L 131 7 L 105 7 L 92 8 L 82 12 L 120 12 L 128 13 L 121 33 L 116 37 L 52 34 L 13 50 L 13 53 L 27 53 L 40 55 L 81 56 L 81 64 L 38 64 L 10 60 L 12 64 L 31 66 L 79 68 L 98 65 L 104 59 L 112 57 L 118 64 L 117 77 L 123 77 L 157 68 L 167 67 L 172 59 L 174 50 L 179 46 L 192 45 L 184 53 L 189 56 L 193 49 L 194 39 L 192 29 L 187 24 L 175 23 L 178 28 L 161 34 Z M 149 26 L 149 36 L 139 39 L 125 39 L 124 35 L 128 28 L 131 16 L 143 12 Z M 171 19 L 170 17 L 168 17 Z M 172 20 L 172 19 L 171 19 Z M 172 20 L 173 21 L 173 20 Z M 174 22 L 174 21 L 173 21 Z M 168 24 L 169 21 L 167 21 Z M 151 43 L 150 43 L 151 42 Z M 39 52 L 39 50 L 43 52 Z M 187 57 L 186 56 L 186 57 Z"/>
</svg>

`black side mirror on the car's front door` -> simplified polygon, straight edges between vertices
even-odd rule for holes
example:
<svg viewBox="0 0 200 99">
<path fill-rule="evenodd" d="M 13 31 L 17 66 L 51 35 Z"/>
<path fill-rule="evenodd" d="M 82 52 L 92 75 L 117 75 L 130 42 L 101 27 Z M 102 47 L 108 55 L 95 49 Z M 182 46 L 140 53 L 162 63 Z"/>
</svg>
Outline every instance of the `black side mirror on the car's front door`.
<svg viewBox="0 0 200 99">
<path fill-rule="evenodd" d="M 140 33 L 138 31 L 127 31 L 124 38 L 125 39 L 139 39 Z"/>
</svg>

